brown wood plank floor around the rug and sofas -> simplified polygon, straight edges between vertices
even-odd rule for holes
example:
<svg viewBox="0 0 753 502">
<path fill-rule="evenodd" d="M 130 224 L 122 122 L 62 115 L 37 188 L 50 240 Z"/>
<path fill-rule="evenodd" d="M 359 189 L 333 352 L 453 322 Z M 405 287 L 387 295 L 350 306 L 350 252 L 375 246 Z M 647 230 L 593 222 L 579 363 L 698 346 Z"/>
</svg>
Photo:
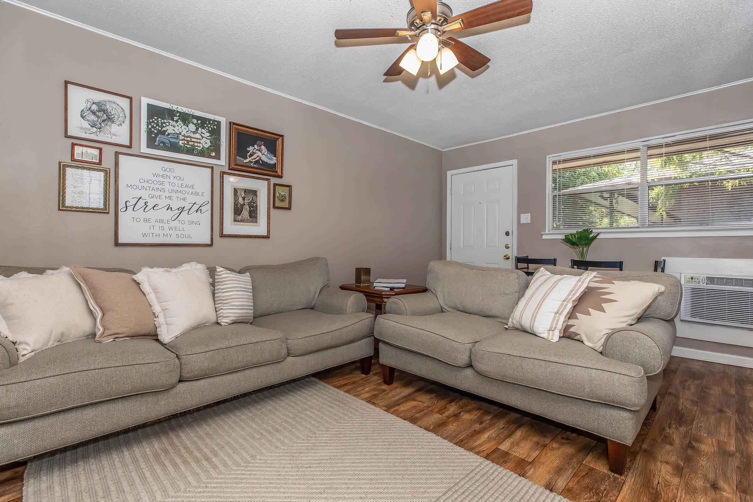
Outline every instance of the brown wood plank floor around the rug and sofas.
<svg viewBox="0 0 753 502">
<path fill-rule="evenodd" d="M 316 376 L 573 502 L 753 502 L 753 369 L 672 357 L 624 476 L 598 437 L 400 370 L 386 386 L 376 357 Z M 0 466 L 0 502 L 21 502 L 25 467 Z"/>
</svg>

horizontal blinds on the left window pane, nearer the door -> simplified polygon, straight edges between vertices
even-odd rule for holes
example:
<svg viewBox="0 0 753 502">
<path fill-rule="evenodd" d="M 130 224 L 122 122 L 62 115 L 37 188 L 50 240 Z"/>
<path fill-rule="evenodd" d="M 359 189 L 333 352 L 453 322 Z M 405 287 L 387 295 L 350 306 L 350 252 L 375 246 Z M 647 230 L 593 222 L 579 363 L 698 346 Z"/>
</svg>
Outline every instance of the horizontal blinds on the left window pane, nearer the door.
<svg viewBox="0 0 753 502">
<path fill-rule="evenodd" d="M 552 162 L 550 230 L 638 227 L 641 148 Z"/>
</svg>

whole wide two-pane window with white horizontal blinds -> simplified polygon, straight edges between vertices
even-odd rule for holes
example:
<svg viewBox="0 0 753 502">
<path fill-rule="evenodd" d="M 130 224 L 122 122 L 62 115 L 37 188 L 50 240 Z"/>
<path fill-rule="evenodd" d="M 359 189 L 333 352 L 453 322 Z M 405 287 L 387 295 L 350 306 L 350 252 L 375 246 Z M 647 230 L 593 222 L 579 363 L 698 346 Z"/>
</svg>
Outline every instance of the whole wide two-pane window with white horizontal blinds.
<svg viewBox="0 0 753 502">
<path fill-rule="evenodd" d="M 753 229 L 753 125 L 550 157 L 547 232 Z"/>
</svg>

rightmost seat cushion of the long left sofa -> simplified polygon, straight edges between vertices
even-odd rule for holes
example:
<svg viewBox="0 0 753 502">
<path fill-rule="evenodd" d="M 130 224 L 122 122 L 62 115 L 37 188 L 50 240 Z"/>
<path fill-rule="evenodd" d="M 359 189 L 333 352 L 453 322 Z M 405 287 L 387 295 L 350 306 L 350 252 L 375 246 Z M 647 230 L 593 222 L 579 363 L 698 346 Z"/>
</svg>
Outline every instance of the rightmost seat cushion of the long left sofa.
<svg viewBox="0 0 753 502">
<path fill-rule="evenodd" d="M 267 315 L 254 319 L 252 324 L 285 333 L 288 355 L 311 354 L 325 348 L 340 347 L 371 336 L 374 331 L 374 318 L 368 312 L 337 315 L 302 309 Z"/>
</svg>

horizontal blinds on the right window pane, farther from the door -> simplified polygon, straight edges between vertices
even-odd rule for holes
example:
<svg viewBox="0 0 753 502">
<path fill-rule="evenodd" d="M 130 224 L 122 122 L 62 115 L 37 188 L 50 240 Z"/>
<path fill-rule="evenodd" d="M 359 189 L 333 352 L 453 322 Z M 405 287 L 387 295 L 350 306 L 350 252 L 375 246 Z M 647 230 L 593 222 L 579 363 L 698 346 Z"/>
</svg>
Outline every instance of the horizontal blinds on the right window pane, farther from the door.
<svg viewBox="0 0 753 502">
<path fill-rule="evenodd" d="M 753 129 L 647 146 L 648 227 L 753 225 Z"/>
</svg>

